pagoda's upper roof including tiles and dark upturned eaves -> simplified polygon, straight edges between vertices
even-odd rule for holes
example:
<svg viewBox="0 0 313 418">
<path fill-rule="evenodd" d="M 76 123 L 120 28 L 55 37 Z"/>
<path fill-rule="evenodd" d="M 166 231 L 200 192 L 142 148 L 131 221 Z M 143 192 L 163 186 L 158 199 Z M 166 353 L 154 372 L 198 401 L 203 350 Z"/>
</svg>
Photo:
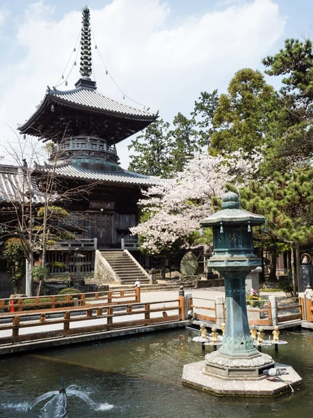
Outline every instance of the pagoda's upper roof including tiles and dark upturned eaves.
<svg viewBox="0 0 313 418">
<path fill-rule="evenodd" d="M 56 88 L 47 88 L 45 98 L 40 102 L 38 109 L 23 124 L 19 125 L 18 130 L 22 134 L 31 134 L 35 137 L 42 137 L 40 126 L 45 125 L 43 118 L 51 114 L 51 105 L 61 105 L 61 107 L 72 108 L 98 114 L 111 118 L 111 120 L 125 120 L 140 123 L 138 130 L 147 127 L 158 117 L 158 112 L 148 111 L 147 109 L 138 109 L 128 104 L 120 103 L 102 93 L 99 93 L 95 87 L 79 86 L 72 90 L 61 91 Z M 129 134 L 127 134 L 127 137 Z M 124 139 L 124 138 L 122 138 Z"/>
</svg>

